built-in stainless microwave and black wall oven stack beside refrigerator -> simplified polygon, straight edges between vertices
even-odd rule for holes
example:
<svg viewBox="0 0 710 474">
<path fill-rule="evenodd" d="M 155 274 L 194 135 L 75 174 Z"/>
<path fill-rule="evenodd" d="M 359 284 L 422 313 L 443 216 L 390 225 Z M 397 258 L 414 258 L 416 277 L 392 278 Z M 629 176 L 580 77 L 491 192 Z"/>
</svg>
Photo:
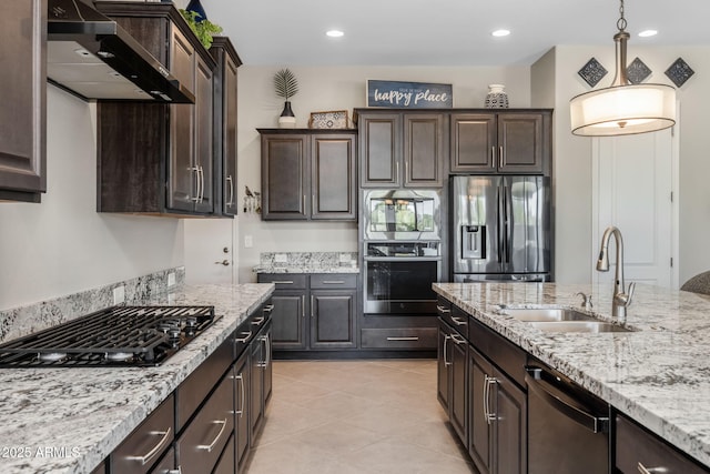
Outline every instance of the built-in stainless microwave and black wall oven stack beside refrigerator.
<svg viewBox="0 0 710 474">
<path fill-rule="evenodd" d="M 364 313 L 434 314 L 442 279 L 440 196 L 435 190 L 364 194 Z"/>
</svg>

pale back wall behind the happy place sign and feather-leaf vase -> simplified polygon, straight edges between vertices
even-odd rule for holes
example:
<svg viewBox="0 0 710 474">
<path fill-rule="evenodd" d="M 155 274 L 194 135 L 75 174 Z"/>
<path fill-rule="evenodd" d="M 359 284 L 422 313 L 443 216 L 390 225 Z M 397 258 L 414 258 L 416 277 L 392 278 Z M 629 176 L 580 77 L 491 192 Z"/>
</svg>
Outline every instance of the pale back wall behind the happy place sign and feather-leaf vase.
<svg viewBox="0 0 710 474">
<path fill-rule="evenodd" d="M 261 143 L 257 128 L 275 128 L 283 100 L 273 92 L 273 74 L 278 67 L 239 69 L 239 195 L 244 186 L 261 191 Z M 385 68 L 288 65 L 298 79 L 300 92 L 292 100 L 296 127 L 307 128 L 311 112 L 365 107 L 367 79 L 386 79 L 453 84 L 454 107 L 480 108 L 488 84 L 506 84 L 510 107 L 530 107 L 530 77 L 527 67 L 510 68 Z M 240 198 L 241 199 L 241 198 Z M 239 280 L 254 281 L 252 268 L 261 252 L 357 251 L 356 223 L 264 222 L 255 214 L 240 214 Z M 244 248 L 251 235 L 252 248 Z M 189 271 L 189 270 L 187 270 Z"/>
</svg>

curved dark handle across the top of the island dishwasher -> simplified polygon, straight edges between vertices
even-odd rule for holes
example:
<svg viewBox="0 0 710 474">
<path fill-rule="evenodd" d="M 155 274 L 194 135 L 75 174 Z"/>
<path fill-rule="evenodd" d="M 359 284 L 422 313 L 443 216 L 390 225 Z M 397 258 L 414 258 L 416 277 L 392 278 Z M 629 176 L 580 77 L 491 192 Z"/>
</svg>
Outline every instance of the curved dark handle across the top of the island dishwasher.
<svg viewBox="0 0 710 474">
<path fill-rule="evenodd" d="M 540 367 L 528 366 L 525 367 L 525 371 L 527 372 L 525 382 L 528 389 L 555 407 L 555 410 L 592 433 L 609 433 L 609 417 L 597 416 L 588 410 L 575 406 L 566 401 L 566 397 L 572 397 L 572 395 L 565 393 L 564 386 L 560 386 L 559 382 L 557 382 L 558 379 L 554 374 Z M 560 396 L 560 394 L 567 396 Z"/>
</svg>

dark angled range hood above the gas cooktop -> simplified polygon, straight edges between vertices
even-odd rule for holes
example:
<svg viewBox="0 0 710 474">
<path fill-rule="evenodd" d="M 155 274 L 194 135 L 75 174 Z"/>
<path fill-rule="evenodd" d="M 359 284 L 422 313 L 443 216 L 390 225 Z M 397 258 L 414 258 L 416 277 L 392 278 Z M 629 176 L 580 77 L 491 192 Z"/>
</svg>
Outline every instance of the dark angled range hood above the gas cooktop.
<svg viewBox="0 0 710 474">
<path fill-rule="evenodd" d="M 49 0 L 47 77 L 85 100 L 194 103 L 195 98 L 115 21 L 81 0 Z"/>
</svg>

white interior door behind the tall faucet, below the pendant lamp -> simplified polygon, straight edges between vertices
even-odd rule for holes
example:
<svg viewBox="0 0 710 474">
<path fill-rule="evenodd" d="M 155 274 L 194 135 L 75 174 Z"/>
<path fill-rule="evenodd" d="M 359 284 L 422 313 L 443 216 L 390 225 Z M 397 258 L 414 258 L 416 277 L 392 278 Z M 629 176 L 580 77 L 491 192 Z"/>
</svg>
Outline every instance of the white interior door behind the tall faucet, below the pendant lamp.
<svg viewBox="0 0 710 474">
<path fill-rule="evenodd" d="M 605 229 L 617 226 L 627 284 L 678 288 L 677 129 L 592 139 L 592 262 Z M 616 265 L 616 243 L 609 252 Z M 612 283 L 613 274 L 615 268 L 601 273 L 592 264 L 595 283 Z"/>
</svg>

